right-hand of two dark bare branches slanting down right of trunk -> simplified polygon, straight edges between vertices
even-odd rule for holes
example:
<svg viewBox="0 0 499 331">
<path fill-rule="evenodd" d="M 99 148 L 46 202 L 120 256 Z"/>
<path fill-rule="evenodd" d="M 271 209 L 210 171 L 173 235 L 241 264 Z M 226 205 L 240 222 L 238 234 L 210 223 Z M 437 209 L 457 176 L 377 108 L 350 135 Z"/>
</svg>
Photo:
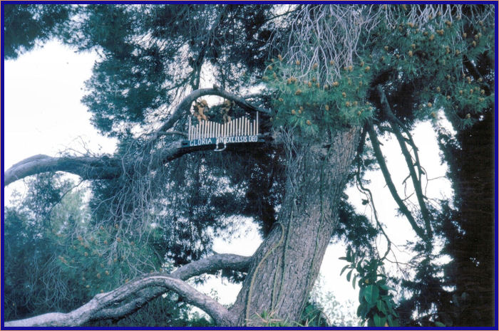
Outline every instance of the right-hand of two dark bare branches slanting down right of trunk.
<svg viewBox="0 0 499 331">
<path fill-rule="evenodd" d="M 388 100 L 386 100 L 386 95 L 381 85 L 376 86 L 376 91 L 381 101 L 381 108 L 390 122 L 390 125 L 393 129 L 393 133 L 397 138 L 398 145 L 401 148 L 403 157 L 406 159 L 406 164 L 409 169 L 409 174 L 411 175 L 414 191 L 416 192 L 416 198 L 418 199 L 419 208 L 421 209 L 421 216 L 423 216 L 423 220 L 425 222 L 426 235 L 428 236 L 428 238 L 431 238 L 433 236 L 433 231 L 431 230 L 431 222 L 430 222 L 431 215 L 430 212 L 428 211 L 428 207 L 426 207 L 426 202 L 424 201 L 424 194 L 423 190 L 421 189 L 421 181 L 418 179 L 416 171 L 414 171 L 414 164 L 412 162 L 411 153 L 408 151 L 408 148 L 406 146 L 406 140 L 404 139 L 401 133 L 400 125 L 398 125 L 398 119 L 395 117 L 395 115 L 393 115 L 393 112 L 391 111 L 391 107 L 388 103 Z"/>
</svg>

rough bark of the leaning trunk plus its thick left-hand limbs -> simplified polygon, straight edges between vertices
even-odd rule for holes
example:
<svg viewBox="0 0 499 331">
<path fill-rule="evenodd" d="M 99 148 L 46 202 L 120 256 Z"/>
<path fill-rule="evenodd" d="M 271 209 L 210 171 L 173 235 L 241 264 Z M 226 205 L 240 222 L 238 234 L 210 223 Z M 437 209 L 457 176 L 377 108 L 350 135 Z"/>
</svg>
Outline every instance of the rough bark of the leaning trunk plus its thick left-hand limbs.
<svg viewBox="0 0 499 331">
<path fill-rule="evenodd" d="M 222 90 L 195 90 L 172 112 L 165 125 L 153 135 L 150 144 L 165 131 L 171 130 L 173 124 L 187 112 L 193 100 L 210 94 L 235 100 L 249 111 L 268 113 L 267 110 L 254 107 L 245 99 Z M 182 267 L 182 270 L 188 271 L 185 274 L 175 271 L 170 275 L 145 275 L 109 293 L 96 295 L 86 305 L 72 312 L 39 315 L 26 320 L 6 322 L 6 326 L 74 326 L 88 320 L 119 318 L 138 310 L 141 305 L 157 298 L 165 290 L 173 290 L 193 305 L 202 308 L 220 326 L 259 325 L 262 321 L 258 314 L 262 312 L 272 313 L 274 317 L 287 322 L 297 321 L 336 226 L 339 199 L 351 172 L 359 137 L 359 127 L 324 132 L 314 140 L 296 136 L 286 130 L 279 134 L 275 143 L 282 144 L 287 150 L 286 192 L 278 221 L 251 258 L 214 256 Z M 185 154 L 185 149 L 180 148 L 180 142 L 172 142 L 151 154 L 148 162 L 140 162 L 148 164 L 148 168 L 130 167 L 130 171 L 150 171 L 180 157 Z M 129 169 L 126 162 L 120 159 L 52 158 L 38 155 L 7 170 L 4 184 L 48 171 L 71 172 L 83 179 L 106 179 L 119 177 Z M 235 304 L 228 310 L 182 281 L 192 275 L 220 268 L 248 270 L 242 290 Z"/>
</svg>

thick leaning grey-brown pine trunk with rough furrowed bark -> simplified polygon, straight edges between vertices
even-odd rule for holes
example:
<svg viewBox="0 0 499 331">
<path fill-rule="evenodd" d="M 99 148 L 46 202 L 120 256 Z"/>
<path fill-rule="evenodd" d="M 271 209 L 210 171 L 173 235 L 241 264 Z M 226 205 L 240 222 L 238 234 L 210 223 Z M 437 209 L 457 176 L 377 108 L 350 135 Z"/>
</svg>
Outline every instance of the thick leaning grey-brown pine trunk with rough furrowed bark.
<svg viewBox="0 0 499 331">
<path fill-rule="evenodd" d="M 351 172 L 359 128 L 320 141 L 283 134 L 287 185 L 279 219 L 254 253 L 230 312 L 237 325 L 261 325 L 258 315 L 299 320 L 336 227 L 338 201 Z"/>
</svg>

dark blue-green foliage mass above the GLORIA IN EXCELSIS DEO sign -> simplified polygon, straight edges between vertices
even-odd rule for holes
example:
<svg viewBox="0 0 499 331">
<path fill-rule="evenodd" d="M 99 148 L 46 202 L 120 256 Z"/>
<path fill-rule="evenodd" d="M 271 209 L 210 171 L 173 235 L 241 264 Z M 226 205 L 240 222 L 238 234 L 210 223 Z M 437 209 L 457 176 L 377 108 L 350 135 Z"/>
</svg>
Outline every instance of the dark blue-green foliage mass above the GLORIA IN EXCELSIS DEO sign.
<svg viewBox="0 0 499 331">
<path fill-rule="evenodd" d="M 101 60 L 86 82 L 83 103 L 105 135 L 124 138 L 165 109 L 185 88 L 200 87 L 209 66 L 217 85 L 235 91 L 254 83 L 267 52 L 268 5 L 90 4 L 63 36 Z M 264 26 L 265 25 L 265 26 Z M 237 32 L 236 32 L 237 27 Z M 255 36 L 257 38 L 255 38 Z M 242 51 L 244 50 L 244 51 Z"/>
</svg>

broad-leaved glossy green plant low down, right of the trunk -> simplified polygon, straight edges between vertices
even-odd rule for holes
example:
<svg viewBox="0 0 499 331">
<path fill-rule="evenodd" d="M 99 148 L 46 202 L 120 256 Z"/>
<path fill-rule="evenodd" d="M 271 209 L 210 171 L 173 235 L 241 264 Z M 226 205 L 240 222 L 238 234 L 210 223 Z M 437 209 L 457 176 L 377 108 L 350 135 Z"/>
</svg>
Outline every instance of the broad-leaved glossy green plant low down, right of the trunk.
<svg viewBox="0 0 499 331">
<path fill-rule="evenodd" d="M 350 263 L 344 266 L 340 274 L 349 269 L 346 280 L 351 280 L 354 288 L 356 284 L 359 285 L 357 315 L 367 322 L 368 327 L 397 327 L 398 313 L 393 294 L 390 293 L 393 288 L 386 283 L 382 268 L 384 263 L 379 258 L 366 260 L 350 248 L 346 251 L 346 257 L 340 259 Z"/>
</svg>

